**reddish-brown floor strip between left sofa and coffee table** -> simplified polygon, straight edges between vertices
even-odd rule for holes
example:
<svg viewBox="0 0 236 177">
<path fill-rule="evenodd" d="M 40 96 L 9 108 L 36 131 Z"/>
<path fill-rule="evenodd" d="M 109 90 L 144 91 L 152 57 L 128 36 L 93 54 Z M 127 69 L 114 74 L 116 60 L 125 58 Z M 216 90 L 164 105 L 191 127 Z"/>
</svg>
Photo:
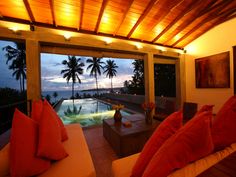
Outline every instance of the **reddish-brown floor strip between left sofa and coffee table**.
<svg viewBox="0 0 236 177">
<path fill-rule="evenodd" d="M 102 126 L 84 129 L 97 177 L 111 177 L 111 163 L 117 155 L 103 137 Z"/>
</svg>

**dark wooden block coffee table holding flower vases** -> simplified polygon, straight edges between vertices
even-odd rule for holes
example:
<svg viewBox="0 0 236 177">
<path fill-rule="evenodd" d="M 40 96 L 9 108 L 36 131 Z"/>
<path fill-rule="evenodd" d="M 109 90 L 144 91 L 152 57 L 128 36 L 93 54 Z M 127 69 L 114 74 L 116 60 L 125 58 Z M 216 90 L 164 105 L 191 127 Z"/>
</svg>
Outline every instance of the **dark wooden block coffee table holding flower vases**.
<svg viewBox="0 0 236 177">
<path fill-rule="evenodd" d="M 144 118 L 122 118 L 122 121 L 130 121 L 132 126 L 125 127 L 122 122 L 116 123 L 114 119 L 103 120 L 103 136 L 112 146 L 116 154 L 125 157 L 138 153 L 151 136 L 159 121 L 146 124 Z"/>
</svg>

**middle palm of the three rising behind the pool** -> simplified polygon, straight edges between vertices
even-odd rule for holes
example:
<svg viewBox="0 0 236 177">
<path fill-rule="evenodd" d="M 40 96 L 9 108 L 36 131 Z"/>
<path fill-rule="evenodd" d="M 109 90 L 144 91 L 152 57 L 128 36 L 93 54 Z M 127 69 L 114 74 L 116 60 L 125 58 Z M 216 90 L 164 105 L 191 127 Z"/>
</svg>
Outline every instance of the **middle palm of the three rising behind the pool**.
<svg viewBox="0 0 236 177">
<path fill-rule="evenodd" d="M 93 57 L 93 59 L 87 59 L 86 61 L 90 65 L 88 65 L 87 70 L 90 69 L 90 76 L 94 76 L 96 79 L 96 86 L 97 86 L 97 95 L 98 95 L 98 78 L 97 75 L 101 75 L 101 69 L 103 69 L 102 64 L 104 62 L 101 61 L 101 58 Z"/>
</svg>

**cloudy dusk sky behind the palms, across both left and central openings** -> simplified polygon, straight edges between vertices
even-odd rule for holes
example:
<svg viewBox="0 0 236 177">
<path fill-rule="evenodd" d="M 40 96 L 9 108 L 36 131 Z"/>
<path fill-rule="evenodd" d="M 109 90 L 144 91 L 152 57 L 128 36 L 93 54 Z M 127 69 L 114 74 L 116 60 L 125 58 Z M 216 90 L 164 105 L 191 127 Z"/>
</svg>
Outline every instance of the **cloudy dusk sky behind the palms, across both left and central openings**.
<svg viewBox="0 0 236 177">
<path fill-rule="evenodd" d="M 11 87 L 19 89 L 19 81 L 12 77 L 12 70 L 8 69 L 6 65 L 5 52 L 3 47 L 11 45 L 15 46 L 12 42 L 0 41 L 0 87 Z M 79 57 L 79 56 L 78 56 Z M 75 90 L 85 90 L 95 88 L 95 78 L 89 76 L 87 71 L 88 64 L 86 59 L 89 57 L 79 57 L 85 64 L 84 74 L 80 75 L 81 84 L 75 85 Z M 70 90 L 71 84 L 67 84 L 66 79 L 63 79 L 61 70 L 65 69 L 61 64 L 63 60 L 68 59 L 67 55 L 56 54 L 41 54 L 41 85 L 42 91 L 59 91 Z M 117 76 L 113 78 L 113 87 L 122 87 L 125 80 L 131 80 L 133 75 L 133 59 L 115 59 L 103 58 L 103 62 L 107 59 L 114 60 L 118 65 Z M 99 88 L 110 88 L 110 79 L 105 74 L 98 76 Z"/>
</svg>

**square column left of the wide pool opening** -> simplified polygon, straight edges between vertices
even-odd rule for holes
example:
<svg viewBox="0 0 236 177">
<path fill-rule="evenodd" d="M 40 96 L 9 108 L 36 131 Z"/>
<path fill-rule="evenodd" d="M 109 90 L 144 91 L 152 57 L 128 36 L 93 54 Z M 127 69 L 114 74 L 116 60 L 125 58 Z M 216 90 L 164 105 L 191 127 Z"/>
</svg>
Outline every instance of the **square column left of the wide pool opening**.
<svg viewBox="0 0 236 177">
<path fill-rule="evenodd" d="M 26 40 L 27 99 L 41 98 L 40 45 L 36 40 Z"/>
</svg>

